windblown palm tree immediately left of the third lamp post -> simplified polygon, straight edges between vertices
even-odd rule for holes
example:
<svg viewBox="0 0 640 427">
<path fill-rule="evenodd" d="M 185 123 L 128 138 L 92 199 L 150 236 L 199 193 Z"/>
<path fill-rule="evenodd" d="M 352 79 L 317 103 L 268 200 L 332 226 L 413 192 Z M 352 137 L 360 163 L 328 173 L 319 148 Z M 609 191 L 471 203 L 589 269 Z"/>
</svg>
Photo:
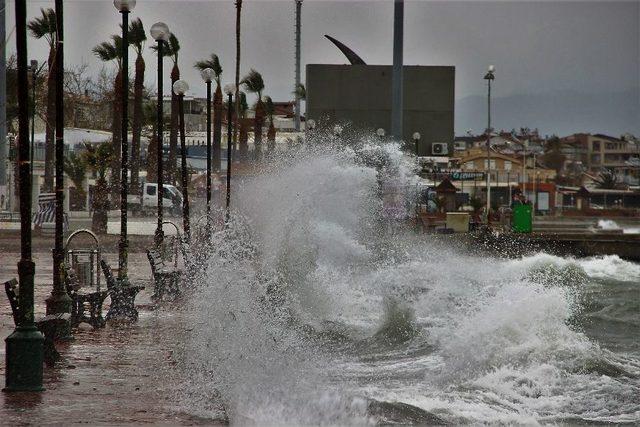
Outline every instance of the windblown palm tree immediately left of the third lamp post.
<svg viewBox="0 0 640 427">
<path fill-rule="evenodd" d="M 113 83 L 113 117 L 111 118 L 111 197 L 118 207 L 120 191 L 120 151 L 122 149 L 122 37 L 113 35 L 111 42 L 102 42 L 93 48 L 93 53 L 103 62 L 114 61 L 118 67 Z"/>
</svg>

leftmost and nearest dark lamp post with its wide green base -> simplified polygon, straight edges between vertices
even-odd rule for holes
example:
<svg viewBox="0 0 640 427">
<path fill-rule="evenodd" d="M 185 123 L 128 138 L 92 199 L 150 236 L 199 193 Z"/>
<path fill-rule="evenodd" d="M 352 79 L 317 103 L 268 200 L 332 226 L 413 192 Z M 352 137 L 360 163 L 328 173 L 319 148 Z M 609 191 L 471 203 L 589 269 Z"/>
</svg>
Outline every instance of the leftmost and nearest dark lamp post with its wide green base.
<svg viewBox="0 0 640 427">
<path fill-rule="evenodd" d="M 27 5 L 16 0 L 16 51 L 18 57 L 18 168 L 20 174 L 20 317 L 6 340 L 4 391 L 42 391 L 44 337 L 34 324 L 31 259 L 31 174 L 29 171 L 29 82 L 27 76 Z"/>
</svg>

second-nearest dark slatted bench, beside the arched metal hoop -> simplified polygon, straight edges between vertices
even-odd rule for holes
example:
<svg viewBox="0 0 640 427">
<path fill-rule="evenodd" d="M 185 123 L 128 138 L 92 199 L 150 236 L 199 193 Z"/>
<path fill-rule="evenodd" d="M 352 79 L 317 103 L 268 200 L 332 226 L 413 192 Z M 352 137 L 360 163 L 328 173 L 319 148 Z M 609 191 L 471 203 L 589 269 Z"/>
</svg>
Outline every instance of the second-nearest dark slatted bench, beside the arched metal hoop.
<svg viewBox="0 0 640 427">
<path fill-rule="evenodd" d="M 64 265 L 64 264 L 63 264 Z M 73 268 L 64 265 L 65 285 L 71 297 L 71 326 L 76 327 L 85 322 L 94 328 L 103 328 L 102 304 L 109 294 L 108 291 L 96 289 L 87 290 L 81 286 Z"/>
</svg>

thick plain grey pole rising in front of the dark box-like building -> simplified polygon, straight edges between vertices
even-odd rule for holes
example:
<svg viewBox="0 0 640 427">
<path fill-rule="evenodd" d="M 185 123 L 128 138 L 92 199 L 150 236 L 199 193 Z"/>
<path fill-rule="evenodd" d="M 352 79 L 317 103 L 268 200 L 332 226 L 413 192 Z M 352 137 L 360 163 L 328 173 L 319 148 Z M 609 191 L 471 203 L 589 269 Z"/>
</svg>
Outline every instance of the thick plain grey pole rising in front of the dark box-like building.
<svg viewBox="0 0 640 427">
<path fill-rule="evenodd" d="M 404 0 L 393 4 L 393 76 L 391 82 L 391 135 L 402 139 L 402 50 L 404 38 Z"/>
</svg>

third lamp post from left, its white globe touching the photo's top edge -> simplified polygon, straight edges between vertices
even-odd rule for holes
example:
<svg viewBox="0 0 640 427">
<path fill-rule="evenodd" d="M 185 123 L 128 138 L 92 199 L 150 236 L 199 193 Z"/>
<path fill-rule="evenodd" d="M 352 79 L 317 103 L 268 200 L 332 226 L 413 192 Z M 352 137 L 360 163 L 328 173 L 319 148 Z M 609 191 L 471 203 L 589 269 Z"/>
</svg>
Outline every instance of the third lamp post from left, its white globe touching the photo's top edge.
<svg viewBox="0 0 640 427">
<path fill-rule="evenodd" d="M 122 15 L 122 164 L 120 166 L 120 243 L 118 251 L 118 278 L 127 280 L 127 193 L 129 180 L 129 12 L 136 0 L 114 0 L 113 5 Z M 114 117 L 114 120 L 116 118 Z"/>
</svg>

